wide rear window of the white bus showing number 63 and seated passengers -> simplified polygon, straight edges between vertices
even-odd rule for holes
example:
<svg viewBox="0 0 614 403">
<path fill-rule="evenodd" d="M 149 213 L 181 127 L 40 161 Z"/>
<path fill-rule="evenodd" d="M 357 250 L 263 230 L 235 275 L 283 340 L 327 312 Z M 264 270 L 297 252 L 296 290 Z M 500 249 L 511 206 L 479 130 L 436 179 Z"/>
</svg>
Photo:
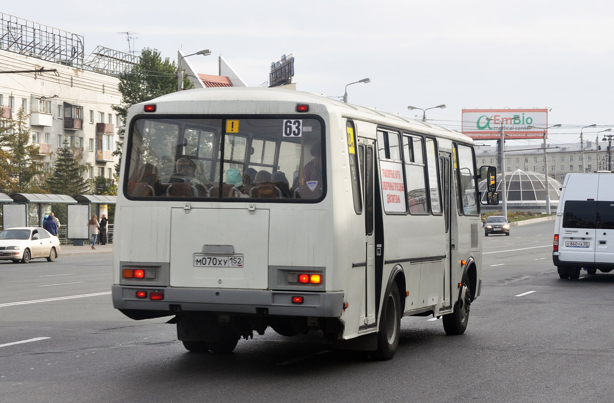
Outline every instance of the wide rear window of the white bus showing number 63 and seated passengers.
<svg viewBox="0 0 614 403">
<path fill-rule="evenodd" d="M 324 196 L 321 121 L 141 118 L 131 125 L 128 198 L 317 201 Z"/>
</svg>

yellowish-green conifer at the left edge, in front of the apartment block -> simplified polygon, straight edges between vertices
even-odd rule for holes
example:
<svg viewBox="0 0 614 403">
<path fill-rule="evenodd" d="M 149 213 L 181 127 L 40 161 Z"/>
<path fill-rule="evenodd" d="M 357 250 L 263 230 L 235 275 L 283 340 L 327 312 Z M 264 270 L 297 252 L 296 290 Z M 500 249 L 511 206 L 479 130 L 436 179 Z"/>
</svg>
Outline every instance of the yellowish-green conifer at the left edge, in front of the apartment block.
<svg viewBox="0 0 614 403">
<path fill-rule="evenodd" d="M 29 115 L 20 108 L 16 120 L 5 120 L 0 129 L 0 189 L 3 193 L 41 193 L 36 179 L 44 174 L 43 155 L 29 144 Z"/>
</svg>

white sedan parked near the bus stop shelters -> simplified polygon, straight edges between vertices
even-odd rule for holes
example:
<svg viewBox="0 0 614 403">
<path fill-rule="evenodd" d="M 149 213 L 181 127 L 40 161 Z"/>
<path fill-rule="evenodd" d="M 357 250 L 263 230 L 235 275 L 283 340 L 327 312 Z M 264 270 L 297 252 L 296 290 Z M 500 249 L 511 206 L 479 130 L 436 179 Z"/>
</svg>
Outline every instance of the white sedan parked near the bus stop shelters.
<svg viewBox="0 0 614 403">
<path fill-rule="evenodd" d="M 46 258 L 52 262 L 60 253 L 60 240 L 44 228 L 17 227 L 0 232 L 0 260 L 29 263 Z"/>
</svg>

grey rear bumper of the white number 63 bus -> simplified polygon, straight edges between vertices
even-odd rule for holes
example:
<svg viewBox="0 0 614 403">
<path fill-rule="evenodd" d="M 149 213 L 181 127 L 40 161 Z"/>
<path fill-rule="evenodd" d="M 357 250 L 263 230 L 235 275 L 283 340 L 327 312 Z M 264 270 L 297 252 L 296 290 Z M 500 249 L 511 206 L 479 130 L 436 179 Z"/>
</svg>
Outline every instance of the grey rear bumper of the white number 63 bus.
<svg viewBox="0 0 614 403">
<path fill-rule="evenodd" d="M 223 288 L 149 288 L 125 285 L 113 285 L 111 291 L 113 306 L 133 319 L 164 317 L 185 311 L 338 318 L 343 313 L 344 302 L 341 291 L 301 293 Z M 137 297 L 137 291 L 145 291 L 147 294 L 145 297 Z M 163 299 L 152 301 L 149 299 L 152 292 L 163 293 Z M 292 297 L 303 297 L 303 302 L 293 303 Z"/>
</svg>

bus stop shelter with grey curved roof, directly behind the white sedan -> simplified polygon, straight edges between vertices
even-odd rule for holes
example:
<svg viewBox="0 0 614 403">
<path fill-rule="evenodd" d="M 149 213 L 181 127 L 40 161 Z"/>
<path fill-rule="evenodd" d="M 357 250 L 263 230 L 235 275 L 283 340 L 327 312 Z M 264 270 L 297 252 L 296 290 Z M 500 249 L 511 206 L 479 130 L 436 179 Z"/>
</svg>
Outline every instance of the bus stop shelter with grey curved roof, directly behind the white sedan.
<svg viewBox="0 0 614 403">
<path fill-rule="evenodd" d="M 10 204 L 2 204 L 4 229 L 21 226 L 42 226 L 44 206 L 47 204 L 77 204 L 65 194 L 11 193 Z M 33 205 L 31 208 L 31 205 Z"/>
</svg>

